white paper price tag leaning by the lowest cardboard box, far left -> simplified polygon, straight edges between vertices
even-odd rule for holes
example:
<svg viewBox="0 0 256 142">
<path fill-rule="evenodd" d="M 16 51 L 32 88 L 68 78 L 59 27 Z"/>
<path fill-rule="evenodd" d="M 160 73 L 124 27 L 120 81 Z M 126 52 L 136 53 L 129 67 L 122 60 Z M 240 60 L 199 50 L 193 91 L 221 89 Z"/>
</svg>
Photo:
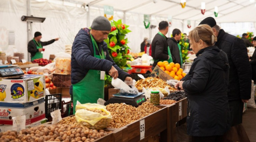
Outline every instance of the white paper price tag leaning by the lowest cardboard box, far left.
<svg viewBox="0 0 256 142">
<path fill-rule="evenodd" d="M 26 115 L 16 116 L 13 118 L 13 131 L 19 132 L 25 129 L 26 126 Z"/>
</svg>

